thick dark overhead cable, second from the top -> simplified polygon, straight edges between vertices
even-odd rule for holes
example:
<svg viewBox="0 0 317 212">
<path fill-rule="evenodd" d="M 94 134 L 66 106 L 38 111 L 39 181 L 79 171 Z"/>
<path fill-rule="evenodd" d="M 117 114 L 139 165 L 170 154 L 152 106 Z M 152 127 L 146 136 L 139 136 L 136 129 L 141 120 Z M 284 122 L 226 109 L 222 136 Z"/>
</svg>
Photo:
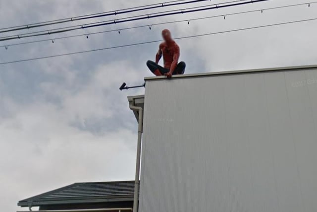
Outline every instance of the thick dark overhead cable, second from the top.
<svg viewBox="0 0 317 212">
<path fill-rule="evenodd" d="M 240 2 L 240 1 L 245 1 L 245 2 Z M 43 31 L 38 31 L 38 32 L 24 33 L 24 34 L 19 34 L 19 35 L 0 37 L 0 41 L 42 36 L 42 35 L 51 35 L 51 34 L 56 34 L 56 33 L 69 32 L 69 31 L 78 30 L 78 29 L 86 29 L 86 28 L 105 26 L 105 25 L 116 24 L 116 23 L 130 22 L 130 21 L 135 21 L 135 20 L 150 19 L 150 18 L 154 18 L 154 17 L 162 17 L 162 16 L 169 16 L 169 15 L 218 9 L 218 8 L 224 8 L 224 7 L 238 6 L 238 5 L 257 3 L 257 2 L 262 2 L 262 1 L 267 1 L 267 0 L 249 0 L 249 1 L 234 0 L 234 1 L 230 1 L 230 2 L 237 2 L 237 3 L 226 4 L 226 5 L 211 4 L 212 6 L 207 5 L 207 6 L 198 6 L 198 7 L 186 8 L 186 9 L 190 9 L 190 10 L 177 9 L 177 10 L 157 12 L 157 13 L 152 13 L 152 14 L 147 14 L 147 15 L 137 15 L 137 16 L 132 16 L 132 17 L 128 17 L 128 18 L 120 18 L 120 19 L 116 19 L 116 20 L 107 20 L 107 21 L 71 26 L 71 27 L 57 28 L 57 29 L 52 29 L 52 30 L 43 30 Z M 225 3 L 228 3 L 228 2 L 223 2 L 221 4 L 225 4 Z M 35 34 L 35 33 L 38 33 L 38 34 Z"/>
</svg>

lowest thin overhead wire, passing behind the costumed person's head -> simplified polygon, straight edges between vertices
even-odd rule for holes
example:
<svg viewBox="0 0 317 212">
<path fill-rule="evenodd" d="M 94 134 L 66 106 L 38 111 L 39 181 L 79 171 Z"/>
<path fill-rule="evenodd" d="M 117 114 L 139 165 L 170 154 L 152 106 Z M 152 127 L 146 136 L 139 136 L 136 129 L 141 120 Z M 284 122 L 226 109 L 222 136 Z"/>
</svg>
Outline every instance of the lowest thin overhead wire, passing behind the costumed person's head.
<svg viewBox="0 0 317 212">
<path fill-rule="evenodd" d="M 288 22 L 282 22 L 282 23 L 276 23 L 276 24 L 268 24 L 268 25 L 261 25 L 261 26 L 254 26 L 254 27 L 233 29 L 233 30 L 227 30 L 227 31 L 221 31 L 221 32 L 212 32 L 212 33 L 199 34 L 199 35 L 183 36 L 183 37 L 175 38 L 175 40 L 181 40 L 181 39 L 187 39 L 187 38 L 196 38 L 196 37 L 203 37 L 203 36 L 209 36 L 209 35 L 216 35 L 216 34 L 223 34 L 223 33 L 229 33 L 229 32 L 243 31 L 243 30 L 259 29 L 259 28 L 271 27 L 271 26 L 280 26 L 280 25 L 286 25 L 286 24 L 292 24 L 292 23 L 300 23 L 300 22 L 307 22 L 307 21 L 313 21 L 313 20 L 317 20 L 317 18 L 297 20 L 297 21 L 288 21 Z M 38 57 L 38 58 L 30 58 L 30 59 L 24 59 L 24 60 L 9 61 L 9 62 L 0 63 L 0 65 L 20 63 L 20 62 L 26 62 L 26 61 L 34 61 L 34 60 L 41 60 L 41 59 L 48 59 L 48 58 L 55 58 L 55 57 L 61 57 L 61 56 L 77 55 L 77 54 L 83 54 L 83 53 L 89 53 L 89 52 L 97 52 L 97 51 L 102 51 L 102 50 L 109 50 L 109 49 L 117 49 L 117 48 L 123 48 L 123 47 L 130 47 L 130 46 L 138 46 L 138 45 L 144 45 L 144 44 L 150 44 L 150 43 L 158 43 L 158 42 L 160 42 L 160 41 L 161 41 L 161 40 L 147 41 L 147 42 L 141 42 L 141 43 L 134 43 L 134 44 L 126 44 L 126 45 L 120 45 L 120 46 L 106 47 L 106 48 L 101 48 L 101 49 L 92 49 L 92 50 L 87 50 L 87 51 L 71 52 L 71 53 L 65 53 L 65 54 L 59 54 L 59 55 L 51 55 L 51 56 L 45 56 L 45 57 Z"/>
</svg>

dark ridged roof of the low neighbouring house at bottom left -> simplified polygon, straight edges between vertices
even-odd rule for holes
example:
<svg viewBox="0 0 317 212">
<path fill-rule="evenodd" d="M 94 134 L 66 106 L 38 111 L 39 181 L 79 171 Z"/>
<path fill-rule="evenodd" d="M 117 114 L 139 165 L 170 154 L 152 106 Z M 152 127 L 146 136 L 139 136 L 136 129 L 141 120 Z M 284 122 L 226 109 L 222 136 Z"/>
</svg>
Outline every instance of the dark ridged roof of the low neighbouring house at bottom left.
<svg viewBox="0 0 317 212">
<path fill-rule="evenodd" d="M 134 181 L 74 183 L 18 202 L 21 207 L 133 202 Z"/>
</svg>

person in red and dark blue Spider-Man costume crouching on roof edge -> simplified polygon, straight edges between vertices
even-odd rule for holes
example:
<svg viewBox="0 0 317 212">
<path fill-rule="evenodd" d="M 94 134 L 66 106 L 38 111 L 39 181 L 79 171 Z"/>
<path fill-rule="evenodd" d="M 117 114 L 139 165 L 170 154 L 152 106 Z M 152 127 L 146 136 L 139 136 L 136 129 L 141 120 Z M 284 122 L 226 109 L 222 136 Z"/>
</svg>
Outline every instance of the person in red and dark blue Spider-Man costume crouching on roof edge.
<svg viewBox="0 0 317 212">
<path fill-rule="evenodd" d="M 183 74 L 185 72 L 186 64 L 182 61 L 178 63 L 179 46 L 172 39 L 171 33 L 168 29 L 162 31 L 164 42 L 159 45 L 159 51 L 156 55 L 155 62 L 148 61 L 148 68 L 156 75 L 166 75 L 170 78 L 174 74 Z M 163 56 L 164 67 L 159 66 L 159 60 Z"/>
</svg>

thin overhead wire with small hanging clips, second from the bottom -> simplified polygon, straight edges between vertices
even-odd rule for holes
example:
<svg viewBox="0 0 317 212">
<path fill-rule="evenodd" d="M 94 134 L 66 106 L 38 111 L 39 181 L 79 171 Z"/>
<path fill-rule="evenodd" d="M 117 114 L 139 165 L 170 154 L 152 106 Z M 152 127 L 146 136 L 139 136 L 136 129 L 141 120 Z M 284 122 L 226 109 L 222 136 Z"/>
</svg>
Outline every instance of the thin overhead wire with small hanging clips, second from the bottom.
<svg viewBox="0 0 317 212">
<path fill-rule="evenodd" d="M 195 21 L 195 20 L 210 19 L 210 18 L 215 18 L 215 17 L 226 17 L 226 16 L 230 16 L 230 15 L 245 14 L 245 13 L 251 13 L 251 12 L 258 12 L 258 11 L 262 11 L 262 12 L 263 12 L 263 11 L 273 10 L 273 9 L 281 9 L 281 8 L 301 6 L 301 5 L 310 5 L 310 4 L 313 4 L 313 3 L 317 3 L 317 1 L 307 2 L 307 3 L 299 3 L 299 4 L 290 4 L 290 5 L 284 5 L 284 6 L 269 7 L 269 8 L 264 8 L 264 9 L 248 10 L 248 11 L 243 11 L 243 12 L 226 13 L 226 14 L 214 15 L 214 16 L 207 16 L 207 17 L 201 17 L 201 18 L 183 19 L 183 20 L 169 21 L 169 22 L 160 22 L 160 23 L 154 23 L 154 24 L 148 24 L 148 25 L 139 25 L 139 26 L 133 26 L 133 27 L 111 29 L 111 30 L 100 31 L 100 32 L 93 32 L 93 33 L 85 33 L 85 34 L 77 34 L 77 35 L 70 35 L 70 36 L 63 36 L 63 37 L 55 37 L 55 38 L 51 38 L 51 39 L 43 39 L 43 40 L 37 40 L 37 41 L 29 41 L 29 42 L 8 44 L 8 45 L 0 46 L 0 47 L 6 47 L 6 48 L 8 48 L 9 46 L 32 44 L 32 43 L 39 43 L 39 42 L 45 42 L 45 41 L 55 41 L 55 40 L 60 40 L 60 39 L 73 38 L 73 37 L 81 37 L 81 36 L 86 36 L 86 37 L 88 38 L 88 36 L 90 36 L 90 35 L 95 35 L 95 34 L 108 33 L 108 32 L 120 32 L 120 31 L 123 31 L 123 30 L 143 28 L 143 27 L 149 27 L 149 28 L 151 28 L 151 27 L 153 27 L 153 26 L 162 25 L 162 24 L 171 24 L 171 23 L 180 23 L 180 22 L 188 22 L 188 24 L 189 24 L 190 21 Z"/>
</svg>

